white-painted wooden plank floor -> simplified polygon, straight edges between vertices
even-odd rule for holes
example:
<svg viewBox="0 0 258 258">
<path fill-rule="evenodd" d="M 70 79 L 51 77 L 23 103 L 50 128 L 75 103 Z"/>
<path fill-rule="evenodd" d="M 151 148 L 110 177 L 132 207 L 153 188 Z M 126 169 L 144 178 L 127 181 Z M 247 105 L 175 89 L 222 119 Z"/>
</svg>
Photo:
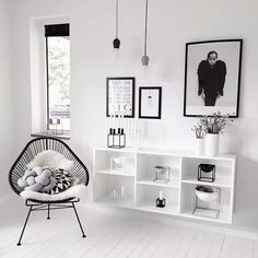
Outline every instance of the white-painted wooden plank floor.
<svg viewBox="0 0 258 258">
<path fill-rule="evenodd" d="M 16 246 L 24 203 L 0 203 L 0 257 L 231 257 L 258 258 L 258 242 L 79 204 L 86 238 L 72 210 L 52 211 L 51 220 L 33 212 Z"/>
</svg>

